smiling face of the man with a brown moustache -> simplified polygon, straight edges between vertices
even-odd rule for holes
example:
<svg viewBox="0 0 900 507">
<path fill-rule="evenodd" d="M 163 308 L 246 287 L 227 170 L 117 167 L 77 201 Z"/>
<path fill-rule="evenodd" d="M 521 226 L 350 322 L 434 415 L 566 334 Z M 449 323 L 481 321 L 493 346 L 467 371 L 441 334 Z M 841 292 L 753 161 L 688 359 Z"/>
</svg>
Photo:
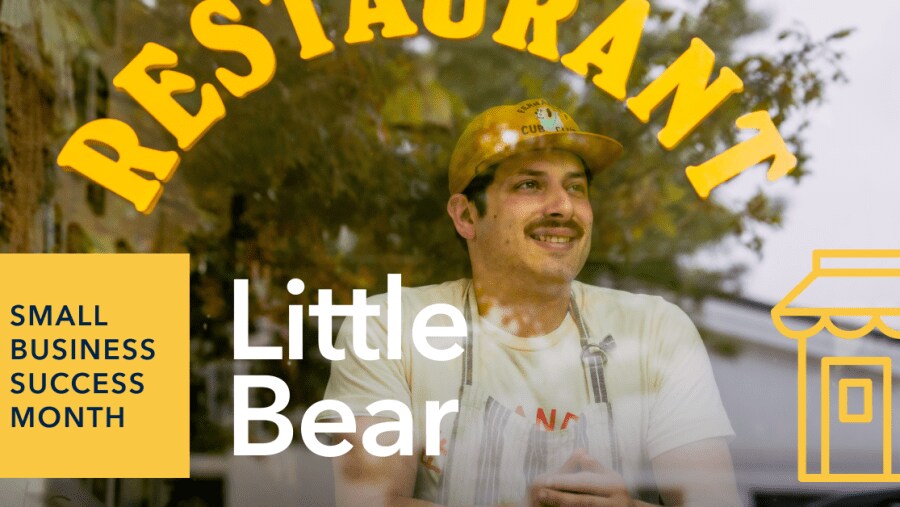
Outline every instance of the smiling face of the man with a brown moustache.
<svg viewBox="0 0 900 507">
<path fill-rule="evenodd" d="M 498 165 L 484 215 L 474 219 L 473 271 L 570 282 L 587 260 L 593 220 L 580 158 L 557 150 L 514 155 Z"/>
</svg>

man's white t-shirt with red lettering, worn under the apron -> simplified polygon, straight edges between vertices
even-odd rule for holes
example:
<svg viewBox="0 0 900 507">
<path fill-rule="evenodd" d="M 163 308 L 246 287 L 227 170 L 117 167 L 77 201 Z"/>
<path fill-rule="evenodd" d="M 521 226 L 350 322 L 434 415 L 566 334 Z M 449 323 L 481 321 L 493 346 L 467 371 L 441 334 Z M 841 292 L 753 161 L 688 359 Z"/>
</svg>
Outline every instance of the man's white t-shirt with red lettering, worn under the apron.
<svg viewBox="0 0 900 507">
<path fill-rule="evenodd" d="M 366 407 L 375 401 L 405 403 L 413 414 L 415 443 L 423 448 L 425 402 L 444 403 L 459 397 L 462 357 L 437 362 L 420 355 L 412 345 L 413 319 L 435 303 L 461 309 L 468 284 L 468 280 L 457 280 L 403 288 L 399 360 L 361 360 L 350 347 L 352 326 L 345 322 L 336 345 L 346 348 L 347 356 L 332 363 L 325 398 L 347 404 L 357 415 L 369 415 Z M 611 335 L 615 340 L 605 379 L 626 482 L 638 478 L 650 460 L 666 451 L 698 440 L 733 436 L 706 350 L 683 311 L 658 296 L 578 282 L 573 282 L 572 290 L 591 335 Z M 367 332 L 369 346 L 380 349 L 384 358 L 386 297 L 373 296 L 369 304 L 382 306 L 381 317 L 368 319 Z M 473 383 L 547 430 L 571 424 L 590 400 L 572 316 L 553 332 L 530 338 L 511 335 L 477 316 L 474 320 Z M 429 324 L 450 326 L 451 322 L 436 316 Z M 429 343 L 446 348 L 452 343 L 462 346 L 464 340 L 430 338 Z M 328 417 L 324 413 L 320 419 Z M 441 436 L 447 437 L 444 428 Z M 423 457 L 419 473 L 439 472 Z"/>
</svg>

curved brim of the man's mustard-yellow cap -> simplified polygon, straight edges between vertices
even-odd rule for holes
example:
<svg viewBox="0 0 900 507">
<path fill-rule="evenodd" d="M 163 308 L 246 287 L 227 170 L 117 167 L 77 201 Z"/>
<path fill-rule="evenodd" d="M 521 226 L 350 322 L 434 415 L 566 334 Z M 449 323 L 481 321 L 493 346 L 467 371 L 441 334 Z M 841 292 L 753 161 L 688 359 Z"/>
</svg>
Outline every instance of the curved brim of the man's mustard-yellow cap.
<svg viewBox="0 0 900 507">
<path fill-rule="evenodd" d="M 578 155 L 588 169 L 596 174 L 609 167 L 622 155 L 622 145 L 615 139 L 589 132 L 547 132 L 526 137 L 516 142 L 511 149 L 482 160 L 475 168 L 475 175 L 481 174 L 491 165 L 519 153 L 540 150 L 562 150 Z"/>
</svg>

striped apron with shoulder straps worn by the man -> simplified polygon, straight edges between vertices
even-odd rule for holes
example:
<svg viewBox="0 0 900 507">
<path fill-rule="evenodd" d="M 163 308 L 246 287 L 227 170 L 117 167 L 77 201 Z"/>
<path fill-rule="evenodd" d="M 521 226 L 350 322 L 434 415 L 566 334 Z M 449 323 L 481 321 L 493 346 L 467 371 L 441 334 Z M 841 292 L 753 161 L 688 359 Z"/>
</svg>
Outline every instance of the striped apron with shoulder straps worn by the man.
<svg viewBox="0 0 900 507">
<path fill-rule="evenodd" d="M 581 318 L 574 296 L 569 315 L 581 338 L 582 365 L 590 386 L 591 403 L 574 424 L 547 431 L 503 406 L 473 382 L 474 343 L 472 311 L 474 295 L 463 298 L 468 336 L 463 353 L 459 413 L 453 424 L 450 448 L 440 485 L 425 499 L 444 505 L 496 505 L 522 499 L 534 479 L 558 470 L 576 449 L 583 449 L 604 466 L 622 473 L 621 458 L 612 424 L 612 407 L 606 396 L 603 367 L 613 349 L 611 336 L 592 339 Z"/>
</svg>

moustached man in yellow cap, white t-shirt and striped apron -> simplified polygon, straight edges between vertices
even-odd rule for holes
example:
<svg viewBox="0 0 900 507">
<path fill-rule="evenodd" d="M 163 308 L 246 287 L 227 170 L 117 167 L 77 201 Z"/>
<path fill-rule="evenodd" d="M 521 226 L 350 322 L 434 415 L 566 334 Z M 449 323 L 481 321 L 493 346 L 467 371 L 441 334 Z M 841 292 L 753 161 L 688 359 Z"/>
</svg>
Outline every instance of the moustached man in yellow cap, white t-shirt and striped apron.
<svg viewBox="0 0 900 507">
<path fill-rule="evenodd" d="M 353 450 L 334 462 L 339 504 L 632 506 L 654 483 L 667 505 L 740 503 L 732 429 L 690 320 L 661 298 L 574 281 L 590 250 L 591 177 L 621 149 L 545 100 L 492 108 L 466 128 L 447 211 L 472 279 L 404 289 L 402 359 L 333 363 L 326 398 L 359 415 Z M 410 320 L 435 303 L 467 321 L 467 336 L 431 339 L 459 344 L 456 360 L 409 344 Z M 429 324 L 449 324 L 439 317 Z M 383 319 L 368 332 L 384 350 Z M 363 449 L 364 430 L 385 422 L 365 407 L 382 399 L 410 407 L 412 456 Z M 426 456 L 425 402 L 452 399 L 440 456 Z"/>
</svg>

